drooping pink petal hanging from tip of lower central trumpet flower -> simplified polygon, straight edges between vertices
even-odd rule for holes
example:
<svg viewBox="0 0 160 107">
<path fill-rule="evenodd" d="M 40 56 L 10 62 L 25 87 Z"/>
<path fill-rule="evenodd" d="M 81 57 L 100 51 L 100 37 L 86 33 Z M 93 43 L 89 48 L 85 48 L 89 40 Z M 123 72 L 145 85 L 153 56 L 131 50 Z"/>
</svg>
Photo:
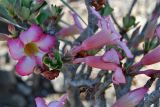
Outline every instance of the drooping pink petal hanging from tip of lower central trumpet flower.
<svg viewBox="0 0 160 107">
<path fill-rule="evenodd" d="M 122 69 L 117 68 L 117 70 L 112 75 L 112 81 L 114 84 L 126 83 L 125 76 L 122 72 Z"/>
</svg>

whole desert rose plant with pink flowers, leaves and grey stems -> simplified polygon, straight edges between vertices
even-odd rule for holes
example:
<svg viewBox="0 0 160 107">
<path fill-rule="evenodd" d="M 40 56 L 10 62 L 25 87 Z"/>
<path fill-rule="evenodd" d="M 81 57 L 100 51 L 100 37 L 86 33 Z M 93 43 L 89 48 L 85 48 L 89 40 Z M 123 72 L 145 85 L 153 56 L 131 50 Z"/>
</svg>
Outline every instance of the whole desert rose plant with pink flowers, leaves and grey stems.
<svg viewBox="0 0 160 107">
<path fill-rule="evenodd" d="M 0 0 L 0 21 L 8 26 L 7 33 L 0 33 L 0 40 L 6 41 L 9 56 L 16 62 L 16 75 L 38 76 L 48 82 L 64 76 L 59 99 L 48 103 L 46 96 L 36 93 L 34 105 L 159 107 L 160 68 L 142 68 L 160 62 L 160 1 L 155 0 L 144 27 L 131 14 L 138 0 L 130 1 L 123 25 L 114 17 L 113 1 L 81 1 L 86 5 L 87 22 L 72 8 L 72 2 L 79 1 Z M 65 14 L 70 17 L 67 22 L 63 20 Z M 138 56 L 142 57 L 137 60 Z M 142 74 L 149 79 L 141 87 L 132 88 L 134 77 Z M 149 94 L 155 82 L 156 89 Z M 113 104 L 105 93 L 110 87 L 115 92 Z"/>
</svg>

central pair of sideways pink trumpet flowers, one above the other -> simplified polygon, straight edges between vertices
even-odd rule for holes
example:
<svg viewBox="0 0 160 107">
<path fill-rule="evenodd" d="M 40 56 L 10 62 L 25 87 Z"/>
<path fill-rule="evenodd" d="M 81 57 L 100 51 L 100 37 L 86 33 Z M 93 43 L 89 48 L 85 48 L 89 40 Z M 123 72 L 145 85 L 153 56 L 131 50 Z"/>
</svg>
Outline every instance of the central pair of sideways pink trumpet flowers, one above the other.
<svg viewBox="0 0 160 107">
<path fill-rule="evenodd" d="M 90 9 L 97 16 L 99 20 L 98 26 L 101 28 L 101 31 L 84 40 L 80 46 L 74 47 L 71 54 L 76 56 L 76 54 L 81 51 L 101 48 L 104 45 L 117 45 L 124 50 L 128 58 L 132 58 L 133 55 L 131 51 L 126 46 L 126 43 L 120 40 L 121 35 L 115 30 L 110 17 L 108 16 L 103 18 L 97 11 L 92 8 Z M 112 81 L 115 84 L 119 84 L 126 82 L 123 71 L 121 67 L 119 67 L 119 60 L 121 59 L 121 54 L 113 48 L 107 51 L 103 56 L 87 56 L 84 58 L 76 58 L 73 63 L 84 62 L 91 67 L 103 70 L 112 70 L 114 71 Z"/>
</svg>

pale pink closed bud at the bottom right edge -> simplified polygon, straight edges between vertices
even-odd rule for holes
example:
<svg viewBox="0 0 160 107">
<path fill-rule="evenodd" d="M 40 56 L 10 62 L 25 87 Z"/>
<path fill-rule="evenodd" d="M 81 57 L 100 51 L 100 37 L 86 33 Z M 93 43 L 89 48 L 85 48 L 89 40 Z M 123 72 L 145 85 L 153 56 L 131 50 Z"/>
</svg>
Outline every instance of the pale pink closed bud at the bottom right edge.
<svg viewBox="0 0 160 107">
<path fill-rule="evenodd" d="M 147 91 L 146 87 L 132 90 L 117 100 L 112 107 L 135 107 L 144 98 Z"/>
</svg>

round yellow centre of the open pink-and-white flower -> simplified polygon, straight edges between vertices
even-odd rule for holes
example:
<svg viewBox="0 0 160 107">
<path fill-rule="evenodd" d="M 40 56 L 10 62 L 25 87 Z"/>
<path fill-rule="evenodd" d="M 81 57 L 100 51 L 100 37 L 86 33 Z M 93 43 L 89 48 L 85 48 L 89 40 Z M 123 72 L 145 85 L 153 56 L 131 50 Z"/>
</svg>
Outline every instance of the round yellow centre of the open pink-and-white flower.
<svg viewBox="0 0 160 107">
<path fill-rule="evenodd" d="M 38 47 L 35 43 L 28 43 L 24 47 L 24 52 L 28 56 L 35 55 L 38 52 Z"/>
</svg>

